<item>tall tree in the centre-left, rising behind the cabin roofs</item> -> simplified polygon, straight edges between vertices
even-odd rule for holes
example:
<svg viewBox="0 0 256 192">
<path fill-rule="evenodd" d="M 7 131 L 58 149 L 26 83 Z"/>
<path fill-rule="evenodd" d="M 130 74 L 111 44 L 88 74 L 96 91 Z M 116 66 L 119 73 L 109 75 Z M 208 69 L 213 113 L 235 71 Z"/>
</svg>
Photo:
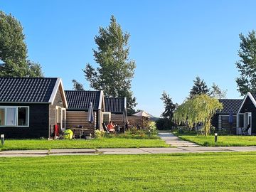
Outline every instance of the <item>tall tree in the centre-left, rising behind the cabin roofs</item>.
<svg viewBox="0 0 256 192">
<path fill-rule="evenodd" d="M 93 89 L 103 90 L 107 97 L 127 97 L 127 113 L 131 114 L 137 103 L 131 91 L 136 65 L 129 59 L 129 36 L 111 16 L 110 26 L 100 27 L 99 35 L 95 36 L 97 49 L 93 53 L 99 67 L 87 63 L 83 71 Z"/>
</svg>

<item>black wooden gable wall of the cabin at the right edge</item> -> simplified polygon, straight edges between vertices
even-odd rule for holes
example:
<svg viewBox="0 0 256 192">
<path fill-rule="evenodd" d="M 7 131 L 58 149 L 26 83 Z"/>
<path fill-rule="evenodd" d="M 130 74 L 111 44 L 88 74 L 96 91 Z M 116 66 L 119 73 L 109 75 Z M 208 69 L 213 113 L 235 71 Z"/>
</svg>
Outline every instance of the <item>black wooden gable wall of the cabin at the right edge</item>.
<svg viewBox="0 0 256 192">
<path fill-rule="evenodd" d="M 240 110 L 240 113 L 245 112 L 252 112 L 252 134 L 256 134 L 256 107 L 249 97 L 246 98 L 245 103 L 242 106 L 242 109 Z"/>
</svg>

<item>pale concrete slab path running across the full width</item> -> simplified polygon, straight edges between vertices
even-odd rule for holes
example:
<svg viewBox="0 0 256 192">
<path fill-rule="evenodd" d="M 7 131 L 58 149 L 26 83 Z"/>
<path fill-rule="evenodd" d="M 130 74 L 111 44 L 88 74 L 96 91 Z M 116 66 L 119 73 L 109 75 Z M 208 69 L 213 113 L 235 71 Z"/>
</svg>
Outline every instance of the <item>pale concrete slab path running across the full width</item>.
<svg viewBox="0 0 256 192">
<path fill-rule="evenodd" d="M 256 151 L 256 146 L 186 146 L 170 148 L 128 148 L 128 149 L 51 149 L 51 150 L 24 150 L 0 151 L 1 157 L 26 156 L 60 156 L 60 155 L 107 155 L 107 154 L 179 154 L 205 152 L 243 152 Z"/>
</svg>

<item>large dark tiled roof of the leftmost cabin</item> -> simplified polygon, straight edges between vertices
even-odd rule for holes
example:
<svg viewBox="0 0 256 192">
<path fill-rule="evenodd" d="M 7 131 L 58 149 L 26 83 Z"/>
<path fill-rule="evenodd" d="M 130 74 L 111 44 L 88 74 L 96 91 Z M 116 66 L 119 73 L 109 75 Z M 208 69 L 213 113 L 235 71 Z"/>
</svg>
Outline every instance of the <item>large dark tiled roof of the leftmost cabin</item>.
<svg viewBox="0 0 256 192">
<path fill-rule="evenodd" d="M 49 102 L 57 78 L 0 78 L 0 102 Z"/>
</svg>

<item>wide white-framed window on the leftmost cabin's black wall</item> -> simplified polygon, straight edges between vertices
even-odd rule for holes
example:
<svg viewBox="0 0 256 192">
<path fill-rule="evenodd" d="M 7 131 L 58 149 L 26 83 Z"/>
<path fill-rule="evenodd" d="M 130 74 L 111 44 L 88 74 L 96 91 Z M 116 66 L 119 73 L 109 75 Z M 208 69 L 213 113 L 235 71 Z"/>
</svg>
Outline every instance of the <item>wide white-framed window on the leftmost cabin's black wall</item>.
<svg viewBox="0 0 256 192">
<path fill-rule="evenodd" d="M 29 107 L 0 107 L 0 127 L 28 127 Z"/>
</svg>

